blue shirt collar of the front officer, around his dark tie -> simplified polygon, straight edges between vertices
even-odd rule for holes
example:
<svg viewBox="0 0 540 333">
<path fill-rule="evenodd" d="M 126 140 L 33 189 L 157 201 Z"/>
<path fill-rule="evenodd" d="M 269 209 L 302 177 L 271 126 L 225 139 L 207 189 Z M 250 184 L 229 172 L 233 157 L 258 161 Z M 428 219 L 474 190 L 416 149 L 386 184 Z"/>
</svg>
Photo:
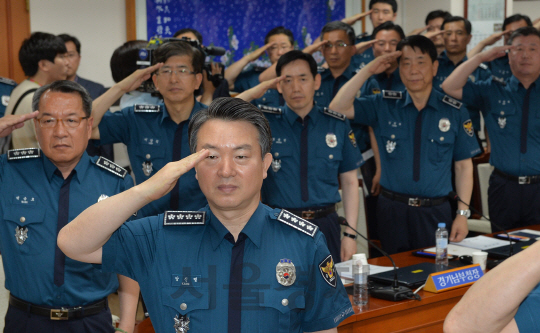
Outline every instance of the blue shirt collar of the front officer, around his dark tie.
<svg viewBox="0 0 540 333">
<path fill-rule="evenodd" d="M 229 233 L 229 230 L 218 220 L 218 218 L 212 213 L 212 210 L 207 205 L 205 208 L 208 212 L 207 223 L 210 225 L 210 241 L 212 243 L 212 249 L 214 251 L 225 240 L 225 236 Z M 263 233 L 264 224 L 266 222 L 266 211 L 264 205 L 259 202 L 259 206 L 249 218 L 248 223 L 242 229 L 242 233 L 245 234 L 251 242 L 260 247 L 261 238 Z"/>
</svg>

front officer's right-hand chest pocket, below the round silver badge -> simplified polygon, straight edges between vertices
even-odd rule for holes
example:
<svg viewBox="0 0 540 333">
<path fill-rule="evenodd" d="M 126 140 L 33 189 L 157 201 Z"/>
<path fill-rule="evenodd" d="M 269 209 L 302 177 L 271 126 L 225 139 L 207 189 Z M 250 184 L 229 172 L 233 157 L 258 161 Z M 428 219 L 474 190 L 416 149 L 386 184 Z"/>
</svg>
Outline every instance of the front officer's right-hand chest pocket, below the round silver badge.
<svg viewBox="0 0 540 333">
<path fill-rule="evenodd" d="M 301 332 L 306 298 L 303 288 L 286 287 L 282 290 L 260 290 L 259 305 L 262 316 L 259 320 L 260 333 Z M 268 323 L 273 323 L 268 325 Z"/>
</svg>

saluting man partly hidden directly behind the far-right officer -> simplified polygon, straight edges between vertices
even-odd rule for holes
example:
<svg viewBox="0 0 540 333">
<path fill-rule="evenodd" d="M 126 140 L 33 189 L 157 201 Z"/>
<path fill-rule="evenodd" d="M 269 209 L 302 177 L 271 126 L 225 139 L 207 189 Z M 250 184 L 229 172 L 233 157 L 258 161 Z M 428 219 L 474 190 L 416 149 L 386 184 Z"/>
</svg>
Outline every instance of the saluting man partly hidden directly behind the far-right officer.
<svg viewBox="0 0 540 333">
<path fill-rule="evenodd" d="M 482 52 L 487 46 L 493 45 L 501 38 L 504 38 L 504 44 L 508 44 L 508 38 L 514 31 L 523 27 L 532 27 L 531 19 L 527 15 L 514 14 L 504 19 L 501 32 L 496 32 L 488 38 L 480 41 L 476 46 L 467 54 L 469 58 L 472 58 L 476 54 Z M 512 70 L 508 60 L 508 55 L 494 59 L 487 63 L 491 73 L 498 78 L 507 80 L 512 76 Z"/>
</svg>

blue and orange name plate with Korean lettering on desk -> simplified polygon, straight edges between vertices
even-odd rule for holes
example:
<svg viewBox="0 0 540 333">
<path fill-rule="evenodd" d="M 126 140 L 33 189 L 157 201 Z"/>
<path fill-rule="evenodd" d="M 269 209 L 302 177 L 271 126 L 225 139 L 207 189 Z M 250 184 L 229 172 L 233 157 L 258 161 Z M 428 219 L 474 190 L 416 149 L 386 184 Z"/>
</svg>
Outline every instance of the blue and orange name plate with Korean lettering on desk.
<svg viewBox="0 0 540 333">
<path fill-rule="evenodd" d="M 484 276 L 484 272 L 482 272 L 480 264 L 432 273 L 426 281 L 424 290 L 432 293 L 439 293 L 441 291 L 461 288 L 475 283 L 482 276 Z"/>
</svg>

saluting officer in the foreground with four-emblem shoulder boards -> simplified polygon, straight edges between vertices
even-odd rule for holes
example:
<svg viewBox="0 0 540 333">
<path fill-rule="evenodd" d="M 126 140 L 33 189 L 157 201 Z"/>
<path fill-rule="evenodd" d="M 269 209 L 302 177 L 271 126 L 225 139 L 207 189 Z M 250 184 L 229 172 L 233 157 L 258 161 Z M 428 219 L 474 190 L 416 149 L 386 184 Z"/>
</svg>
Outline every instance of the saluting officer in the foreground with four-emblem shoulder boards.
<svg viewBox="0 0 540 333">
<path fill-rule="evenodd" d="M 219 98 L 189 132 L 197 153 L 83 212 L 62 250 L 139 281 L 156 332 L 337 332 L 353 310 L 323 235 L 259 201 L 272 162 L 262 113 Z M 122 225 L 194 166 L 207 207 Z"/>
</svg>

